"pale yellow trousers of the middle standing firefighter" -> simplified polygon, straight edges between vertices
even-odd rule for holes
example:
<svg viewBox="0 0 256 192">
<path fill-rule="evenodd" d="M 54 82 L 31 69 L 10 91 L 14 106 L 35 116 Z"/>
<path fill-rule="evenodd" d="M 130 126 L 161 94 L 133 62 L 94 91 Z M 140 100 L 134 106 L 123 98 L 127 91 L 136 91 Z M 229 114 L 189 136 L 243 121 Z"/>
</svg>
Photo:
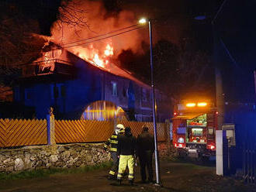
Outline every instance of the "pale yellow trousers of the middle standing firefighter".
<svg viewBox="0 0 256 192">
<path fill-rule="evenodd" d="M 133 168 L 134 168 L 134 158 L 132 155 L 130 156 L 123 156 L 121 155 L 119 158 L 119 169 L 117 174 L 117 179 L 121 179 L 123 177 L 123 173 L 126 170 L 126 166 L 129 169 L 129 180 L 133 180 Z"/>
</svg>

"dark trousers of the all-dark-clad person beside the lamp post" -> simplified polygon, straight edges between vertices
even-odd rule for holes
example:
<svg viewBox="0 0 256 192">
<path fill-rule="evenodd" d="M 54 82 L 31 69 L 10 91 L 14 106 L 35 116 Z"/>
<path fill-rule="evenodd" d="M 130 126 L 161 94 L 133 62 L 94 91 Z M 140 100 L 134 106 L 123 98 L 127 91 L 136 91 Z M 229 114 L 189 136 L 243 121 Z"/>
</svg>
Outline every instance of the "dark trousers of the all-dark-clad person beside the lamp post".
<svg viewBox="0 0 256 192">
<path fill-rule="evenodd" d="M 148 180 L 153 180 L 153 167 L 152 167 L 152 151 L 144 151 L 143 153 L 139 154 L 140 159 L 140 176 L 141 180 L 145 181 L 147 179 L 146 176 L 146 166 L 147 166 L 147 173 L 148 173 Z"/>
</svg>

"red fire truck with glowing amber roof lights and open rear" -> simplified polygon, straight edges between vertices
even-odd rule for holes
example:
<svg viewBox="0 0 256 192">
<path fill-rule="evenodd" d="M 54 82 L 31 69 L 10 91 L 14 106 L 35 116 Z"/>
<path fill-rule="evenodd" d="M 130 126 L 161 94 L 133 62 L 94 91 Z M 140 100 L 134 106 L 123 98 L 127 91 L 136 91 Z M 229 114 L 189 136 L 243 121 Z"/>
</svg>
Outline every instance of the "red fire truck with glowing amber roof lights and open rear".
<svg viewBox="0 0 256 192">
<path fill-rule="evenodd" d="M 183 101 L 172 118 L 173 145 L 197 156 L 215 156 L 217 116 L 211 101 Z"/>
</svg>

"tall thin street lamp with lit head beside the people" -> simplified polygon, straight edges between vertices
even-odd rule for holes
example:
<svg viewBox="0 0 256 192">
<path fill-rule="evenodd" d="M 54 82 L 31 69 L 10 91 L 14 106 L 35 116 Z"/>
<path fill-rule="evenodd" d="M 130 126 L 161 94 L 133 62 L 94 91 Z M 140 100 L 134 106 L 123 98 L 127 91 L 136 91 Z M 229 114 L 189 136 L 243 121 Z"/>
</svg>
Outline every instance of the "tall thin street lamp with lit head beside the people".
<svg viewBox="0 0 256 192">
<path fill-rule="evenodd" d="M 150 36 L 150 68 L 151 68 L 151 87 L 152 87 L 152 109 L 153 109 L 153 122 L 154 122 L 154 156 L 156 166 L 156 179 L 157 184 L 160 185 L 160 174 L 159 174 L 159 159 L 157 149 L 157 122 L 156 122 L 156 101 L 154 97 L 154 67 L 153 67 L 153 53 L 152 53 L 152 29 L 150 19 L 142 18 L 139 20 L 140 24 L 146 24 L 148 22 L 149 36 Z"/>
</svg>

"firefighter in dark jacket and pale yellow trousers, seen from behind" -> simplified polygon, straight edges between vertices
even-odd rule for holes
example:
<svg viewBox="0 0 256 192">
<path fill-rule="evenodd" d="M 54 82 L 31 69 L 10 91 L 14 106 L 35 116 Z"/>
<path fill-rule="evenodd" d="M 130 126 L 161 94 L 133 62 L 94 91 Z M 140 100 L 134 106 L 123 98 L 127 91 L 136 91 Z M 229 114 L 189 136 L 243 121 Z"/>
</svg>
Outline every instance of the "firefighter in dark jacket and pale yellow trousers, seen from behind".
<svg viewBox="0 0 256 192">
<path fill-rule="evenodd" d="M 118 184 L 121 185 L 123 174 L 128 166 L 128 180 L 133 185 L 134 180 L 134 156 L 136 154 L 137 139 L 133 137 L 130 127 L 126 127 L 124 135 L 119 136 L 117 155 L 119 156 L 119 169 L 117 174 Z"/>
</svg>

